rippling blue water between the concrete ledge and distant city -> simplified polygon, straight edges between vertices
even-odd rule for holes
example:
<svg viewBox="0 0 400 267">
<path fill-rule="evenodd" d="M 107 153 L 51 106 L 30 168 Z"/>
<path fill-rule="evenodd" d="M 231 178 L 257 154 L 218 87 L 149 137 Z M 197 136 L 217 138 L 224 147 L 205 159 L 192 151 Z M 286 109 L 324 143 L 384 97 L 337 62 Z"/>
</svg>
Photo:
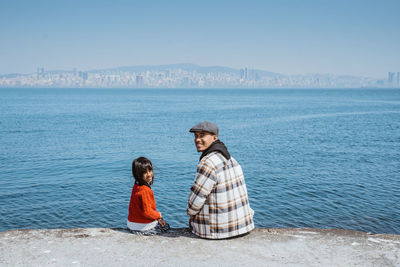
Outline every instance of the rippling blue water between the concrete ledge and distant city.
<svg viewBox="0 0 400 267">
<path fill-rule="evenodd" d="M 187 225 L 210 120 L 244 170 L 259 227 L 400 234 L 400 90 L 0 89 L 0 231 L 124 227 L 131 162 Z"/>
</svg>

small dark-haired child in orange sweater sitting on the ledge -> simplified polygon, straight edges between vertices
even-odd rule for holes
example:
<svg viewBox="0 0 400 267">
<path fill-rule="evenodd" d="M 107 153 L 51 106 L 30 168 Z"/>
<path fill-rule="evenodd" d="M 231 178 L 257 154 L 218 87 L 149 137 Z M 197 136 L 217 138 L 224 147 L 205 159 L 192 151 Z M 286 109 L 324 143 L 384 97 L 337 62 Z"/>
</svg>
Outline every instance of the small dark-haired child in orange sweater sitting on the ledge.
<svg viewBox="0 0 400 267">
<path fill-rule="evenodd" d="M 127 225 L 134 233 L 147 235 L 158 234 L 169 229 L 156 209 L 156 202 L 150 185 L 153 184 L 154 174 L 151 161 L 140 157 L 132 162 L 132 174 L 135 184 L 132 188 L 129 203 Z"/>
</svg>

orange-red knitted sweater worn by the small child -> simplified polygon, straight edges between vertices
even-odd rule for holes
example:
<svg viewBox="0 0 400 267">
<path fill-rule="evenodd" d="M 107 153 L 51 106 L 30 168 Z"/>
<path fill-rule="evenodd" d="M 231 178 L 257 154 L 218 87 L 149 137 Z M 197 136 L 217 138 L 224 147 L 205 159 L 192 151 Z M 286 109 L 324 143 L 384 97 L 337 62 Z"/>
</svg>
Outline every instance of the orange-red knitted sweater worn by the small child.
<svg viewBox="0 0 400 267">
<path fill-rule="evenodd" d="M 146 185 L 135 184 L 129 203 L 128 221 L 151 223 L 160 217 L 161 214 L 156 209 L 156 201 L 151 188 Z"/>
</svg>

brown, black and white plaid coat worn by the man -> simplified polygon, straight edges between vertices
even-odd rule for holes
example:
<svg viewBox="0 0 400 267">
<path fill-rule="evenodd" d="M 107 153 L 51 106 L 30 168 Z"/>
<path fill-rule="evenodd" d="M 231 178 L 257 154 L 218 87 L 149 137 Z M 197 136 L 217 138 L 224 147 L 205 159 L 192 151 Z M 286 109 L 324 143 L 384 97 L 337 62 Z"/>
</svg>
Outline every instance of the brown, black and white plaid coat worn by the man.
<svg viewBox="0 0 400 267">
<path fill-rule="evenodd" d="M 200 160 L 187 214 L 193 216 L 192 232 L 204 238 L 228 238 L 254 229 L 242 168 L 234 158 L 211 152 Z"/>
</svg>

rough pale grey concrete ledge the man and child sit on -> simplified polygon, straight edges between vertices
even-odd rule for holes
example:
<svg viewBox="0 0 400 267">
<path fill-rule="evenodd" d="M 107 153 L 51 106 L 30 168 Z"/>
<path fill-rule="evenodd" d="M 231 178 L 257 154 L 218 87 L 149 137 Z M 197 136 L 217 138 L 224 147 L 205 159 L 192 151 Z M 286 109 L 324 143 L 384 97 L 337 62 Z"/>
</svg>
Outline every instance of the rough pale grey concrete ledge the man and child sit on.
<svg viewBox="0 0 400 267">
<path fill-rule="evenodd" d="M 262 229 L 204 240 L 187 229 L 137 236 L 124 229 L 0 233 L 2 266 L 400 266 L 400 235 L 347 230 Z"/>
</svg>

